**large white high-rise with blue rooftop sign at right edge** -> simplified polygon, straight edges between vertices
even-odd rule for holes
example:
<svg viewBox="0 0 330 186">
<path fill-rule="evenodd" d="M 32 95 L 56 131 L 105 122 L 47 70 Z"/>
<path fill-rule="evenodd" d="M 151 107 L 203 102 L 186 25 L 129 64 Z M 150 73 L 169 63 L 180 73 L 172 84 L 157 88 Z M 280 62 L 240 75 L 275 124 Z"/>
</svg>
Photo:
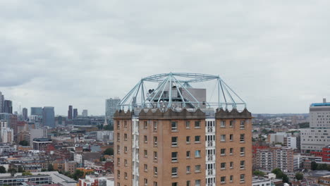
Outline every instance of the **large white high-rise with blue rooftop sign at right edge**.
<svg viewBox="0 0 330 186">
<path fill-rule="evenodd" d="M 330 144 L 330 103 L 310 105 L 310 128 L 300 129 L 302 151 L 322 151 Z"/>
</svg>

